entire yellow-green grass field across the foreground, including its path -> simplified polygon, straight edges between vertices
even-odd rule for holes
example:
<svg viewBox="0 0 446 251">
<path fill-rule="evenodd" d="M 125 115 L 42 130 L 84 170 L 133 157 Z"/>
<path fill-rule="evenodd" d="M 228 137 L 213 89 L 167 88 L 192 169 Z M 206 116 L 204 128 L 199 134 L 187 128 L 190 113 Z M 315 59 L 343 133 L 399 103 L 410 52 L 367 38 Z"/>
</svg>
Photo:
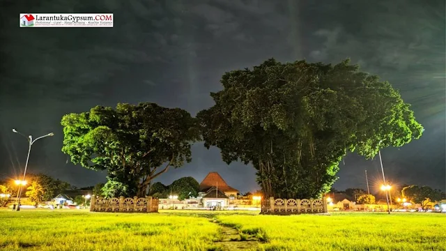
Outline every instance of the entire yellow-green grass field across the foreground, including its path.
<svg viewBox="0 0 446 251">
<path fill-rule="evenodd" d="M 445 225 L 439 213 L 0 210 L 0 250 L 446 250 Z"/>
</svg>

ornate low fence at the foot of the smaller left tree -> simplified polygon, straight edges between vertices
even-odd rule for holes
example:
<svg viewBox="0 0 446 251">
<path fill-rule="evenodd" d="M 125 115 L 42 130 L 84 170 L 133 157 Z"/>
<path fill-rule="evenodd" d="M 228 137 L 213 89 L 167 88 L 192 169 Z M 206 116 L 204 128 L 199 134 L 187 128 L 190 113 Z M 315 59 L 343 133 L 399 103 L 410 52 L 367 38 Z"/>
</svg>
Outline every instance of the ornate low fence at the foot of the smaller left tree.
<svg viewBox="0 0 446 251">
<path fill-rule="evenodd" d="M 157 213 L 158 199 L 153 197 L 113 197 L 105 199 L 102 197 L 91 197 L 91 212 L 135 212 L 135 213 Z"/>
</svg>

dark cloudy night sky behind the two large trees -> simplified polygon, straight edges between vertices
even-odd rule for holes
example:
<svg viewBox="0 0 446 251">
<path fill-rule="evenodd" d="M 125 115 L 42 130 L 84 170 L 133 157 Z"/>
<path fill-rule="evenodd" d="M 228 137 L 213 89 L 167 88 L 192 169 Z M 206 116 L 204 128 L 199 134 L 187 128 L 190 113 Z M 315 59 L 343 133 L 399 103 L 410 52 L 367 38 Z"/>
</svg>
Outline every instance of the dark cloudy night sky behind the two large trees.
<svg viewBox="0 0 446 251">
<path fill-rule="evenodd" d="M 192 115 L 213 105 L 225 71 L 279 61 L 336 63 L 350 57 L 379 75 L 413 105 L 424 135 L 401 149 L 384 149 L 391 183 L 445 190 L 445 1 L 23 1 L 0 3 L 0 179 L 16 178 L 26 139 L 29 171 L 78 187 L 105 182 L 105 173 L 72 165 L 61 152 L 63 114 L 95 105 L 157 102 Z M 68 3 L 69 2 L 69 3 Z M 91 2 L 91 3 L 89 3 Z M 114 13 L 114 28 L 20 29 L 20 13 Z M 157 181 L 201 181 L 219 172 L 229 185 L 256 190 L 254 168 L 226 165 L 202 143 L 192 162 Z M 379 160 L 351 153 L 340 163 L 337 189 L 380 182 Z"/>
</svg>

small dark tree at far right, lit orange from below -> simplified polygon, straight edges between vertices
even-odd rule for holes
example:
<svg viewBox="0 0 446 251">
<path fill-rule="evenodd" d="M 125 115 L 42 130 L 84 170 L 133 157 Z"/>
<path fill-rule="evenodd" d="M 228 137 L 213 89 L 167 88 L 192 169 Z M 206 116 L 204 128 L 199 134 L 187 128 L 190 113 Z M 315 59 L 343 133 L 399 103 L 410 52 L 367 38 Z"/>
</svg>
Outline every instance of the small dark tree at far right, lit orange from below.
<svg viewBox="0 0 446 251">
<path fill-rule="evenodd" d="M 420 204 L 423 209 L 430 201 L 439 201 L 441 191 L 432 189 L 429 186 L 409 185 L 401 190 L 403 197 L 410 199 L 413 203 Z"/>
</svg>

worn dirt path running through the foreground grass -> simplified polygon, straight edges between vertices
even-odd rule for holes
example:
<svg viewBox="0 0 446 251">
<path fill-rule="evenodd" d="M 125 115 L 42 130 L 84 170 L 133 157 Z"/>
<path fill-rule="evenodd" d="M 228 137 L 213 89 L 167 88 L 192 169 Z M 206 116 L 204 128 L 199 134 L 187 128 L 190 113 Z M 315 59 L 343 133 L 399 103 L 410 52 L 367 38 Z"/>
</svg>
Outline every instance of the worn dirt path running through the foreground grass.
<svg viewBox="0 0 446 251">
<path fill-rule="evenodd" d="M 259 239 L 249 234 L 243 234 L 235 227 L 220 224 L 217 220 L 211 222 L 219 226 L 220 235 L 215 241 L 217 250 L 256 250 L 259 247 Z"/>
</svg>

